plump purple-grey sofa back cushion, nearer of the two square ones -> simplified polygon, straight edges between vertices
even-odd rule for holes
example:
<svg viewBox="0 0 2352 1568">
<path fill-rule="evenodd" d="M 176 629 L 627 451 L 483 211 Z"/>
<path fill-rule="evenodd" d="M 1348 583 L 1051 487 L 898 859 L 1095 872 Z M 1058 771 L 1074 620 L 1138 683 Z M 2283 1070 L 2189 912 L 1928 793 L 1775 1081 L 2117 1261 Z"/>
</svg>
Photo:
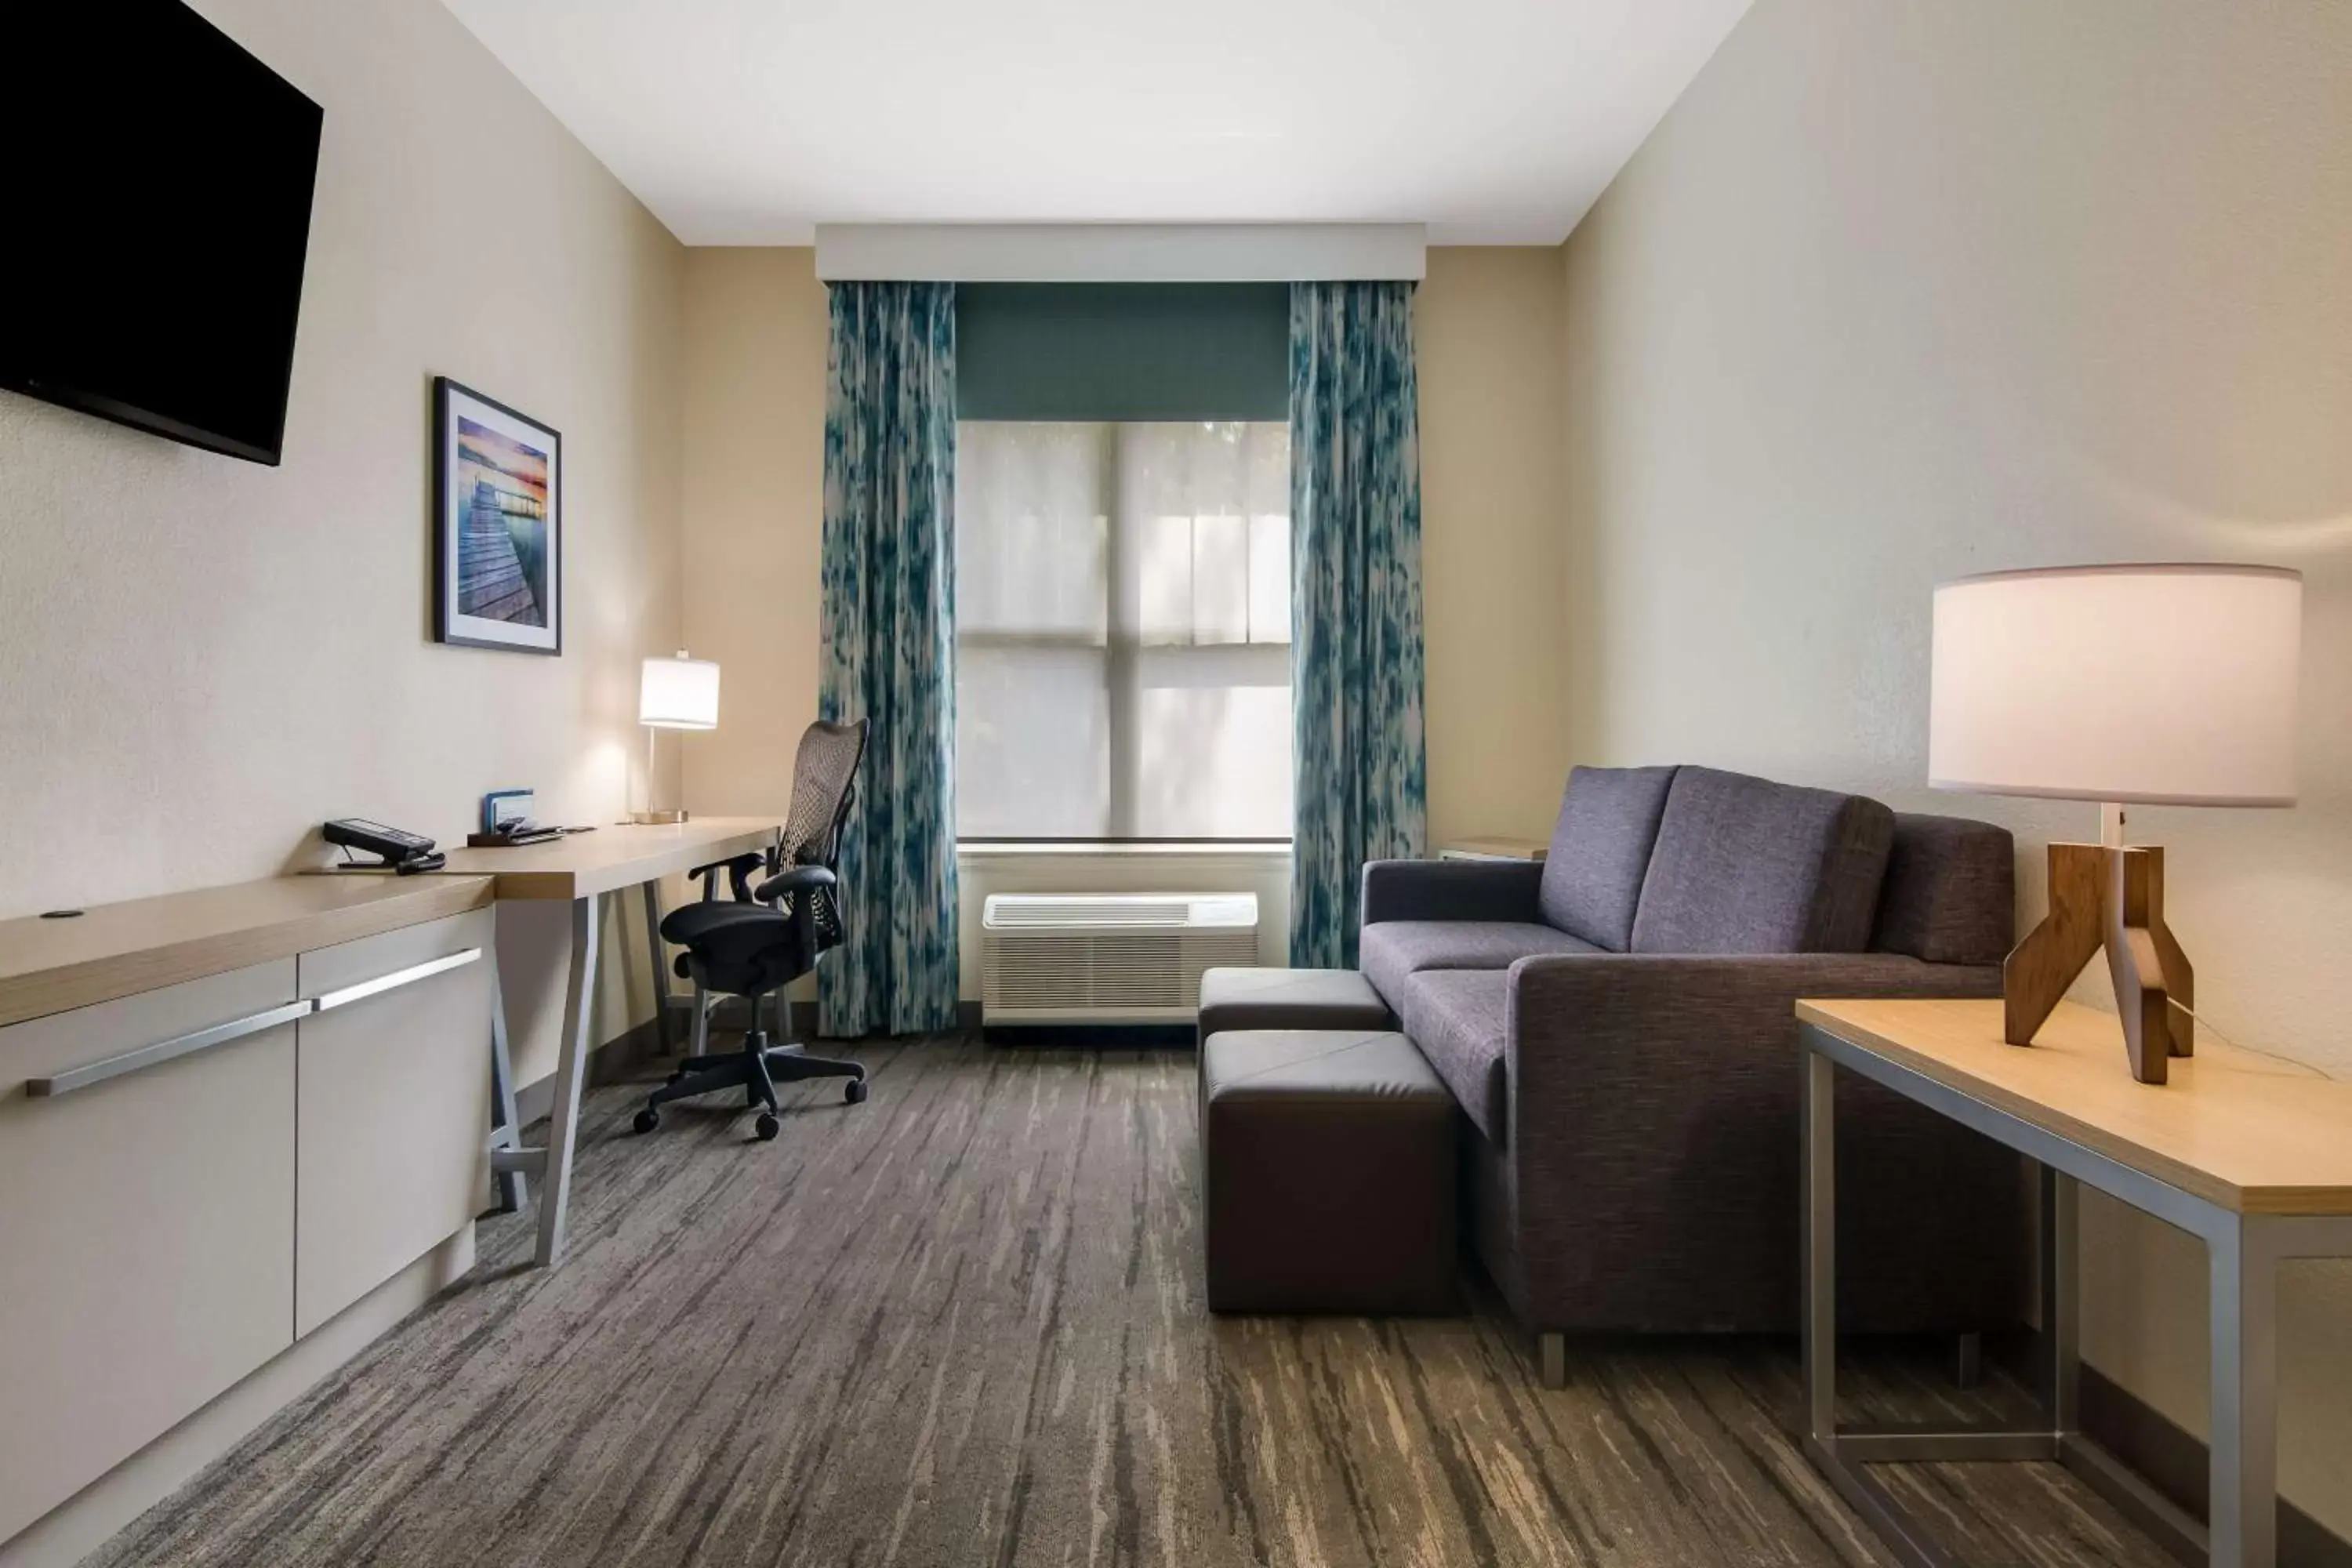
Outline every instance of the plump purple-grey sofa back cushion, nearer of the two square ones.
<svg viewBox="0 0 2352 1568">
<path fill-rule="evenodd" d="M 1860 795 L 1679 769 L 1632 952 L 1863 952 L 1893 835 Z"/>
</svg>

